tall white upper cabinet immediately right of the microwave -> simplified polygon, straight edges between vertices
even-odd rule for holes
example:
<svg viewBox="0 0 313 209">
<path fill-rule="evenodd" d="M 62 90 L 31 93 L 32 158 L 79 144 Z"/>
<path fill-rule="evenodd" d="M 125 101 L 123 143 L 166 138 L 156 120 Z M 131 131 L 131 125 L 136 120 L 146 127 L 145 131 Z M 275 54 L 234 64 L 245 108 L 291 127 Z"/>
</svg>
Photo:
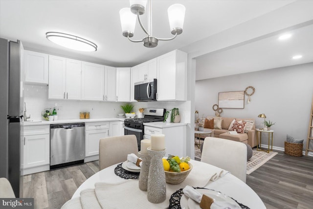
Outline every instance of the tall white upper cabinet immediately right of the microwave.
<svg viewBox="0 0 313 209">
<path fill-rule="evenodd" d="M 187 100 L 187 53 L 174 50 L 157 57 L 157 100 Z"/>
</svg>

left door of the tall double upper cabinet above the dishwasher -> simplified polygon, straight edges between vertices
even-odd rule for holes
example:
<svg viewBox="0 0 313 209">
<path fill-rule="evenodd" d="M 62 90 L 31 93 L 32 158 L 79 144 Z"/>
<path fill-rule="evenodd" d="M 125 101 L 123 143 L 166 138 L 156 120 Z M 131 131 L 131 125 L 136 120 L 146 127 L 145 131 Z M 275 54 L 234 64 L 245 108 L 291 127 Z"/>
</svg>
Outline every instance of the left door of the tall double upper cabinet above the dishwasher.
<svg viewBox="0 0 313 209">
<path fill-rule="evenodd" d="M 49 99 L 66 97 L 66 59 L 49 55 Z"/>
</svg>

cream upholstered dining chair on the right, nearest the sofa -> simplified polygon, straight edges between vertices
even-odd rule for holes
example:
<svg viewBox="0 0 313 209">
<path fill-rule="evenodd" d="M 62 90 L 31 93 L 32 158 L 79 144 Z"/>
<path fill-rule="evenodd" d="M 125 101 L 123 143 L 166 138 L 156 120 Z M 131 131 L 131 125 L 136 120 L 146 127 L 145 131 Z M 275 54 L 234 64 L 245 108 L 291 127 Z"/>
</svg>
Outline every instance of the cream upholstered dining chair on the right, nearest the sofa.
<svg viewBox="0 0 313 209">
<path fill-rule="evenodd" d="M 243 142 L 206 137 L 201 162 L 223 168 L 246 183 L 246 153 Z"/>
</svg>

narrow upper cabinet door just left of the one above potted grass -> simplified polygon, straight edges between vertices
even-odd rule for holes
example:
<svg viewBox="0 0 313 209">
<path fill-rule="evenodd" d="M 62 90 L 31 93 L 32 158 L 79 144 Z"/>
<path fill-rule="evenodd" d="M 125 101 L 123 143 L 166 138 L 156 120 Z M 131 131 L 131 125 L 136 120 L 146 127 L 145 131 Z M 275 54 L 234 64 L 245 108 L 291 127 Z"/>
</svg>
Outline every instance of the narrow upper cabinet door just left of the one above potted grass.
<svg viewBox="0 0 313 209">
<path fill-rule="evenodd" d="M 116 68 L 105 66 L 104 72 L 104 100 L 114 102 L 116 100 Z"/>
</svg>

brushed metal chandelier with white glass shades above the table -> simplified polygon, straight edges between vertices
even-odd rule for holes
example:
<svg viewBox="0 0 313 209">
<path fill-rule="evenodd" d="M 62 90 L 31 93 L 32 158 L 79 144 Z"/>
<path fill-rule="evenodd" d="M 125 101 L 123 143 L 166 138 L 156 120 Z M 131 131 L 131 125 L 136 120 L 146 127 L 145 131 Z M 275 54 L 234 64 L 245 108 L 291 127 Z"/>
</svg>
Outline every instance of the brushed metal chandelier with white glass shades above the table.
<svg viewBox="0 0 313 209">
<path fill-rule="evenodd" d="M 146 47 L 156 47 L 158 41 L 170 41 L 182 33 L 182 26 L 185 18 L 185 6 L 182 4 L 173 4 L 168 10 L 168 19 L 170 22 L 171 33 L 174 35 L 172 38 L 162 39 L 152 36 L 152 9 L 151 0 L 148 0 L 148 30 L 142 25 L 140 15 L 146 11 L 147 0 L 130 0 L 131 8 L 123 8 L 119 11 L 123 36 L 127 37 L 131 42 L 142 42 Z M 136 18 L 142 30 L 148 35 L 142 40 L 131 40 L 134 36 L 134 29 Z"/>
</svg>

